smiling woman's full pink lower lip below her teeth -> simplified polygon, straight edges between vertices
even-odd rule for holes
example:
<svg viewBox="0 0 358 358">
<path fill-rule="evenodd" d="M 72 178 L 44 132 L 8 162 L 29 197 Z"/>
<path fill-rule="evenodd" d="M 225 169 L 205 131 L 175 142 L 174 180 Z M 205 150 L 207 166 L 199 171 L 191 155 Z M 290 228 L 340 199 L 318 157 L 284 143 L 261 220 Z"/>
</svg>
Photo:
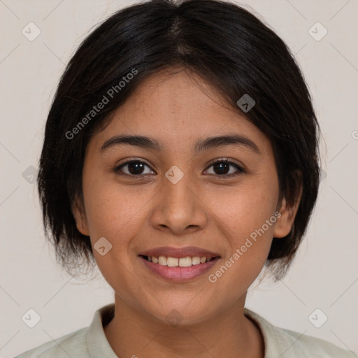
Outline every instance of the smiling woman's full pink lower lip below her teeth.
<svg viewBox="0 0 358 358">
<path fill-rule="evenodd" d="M 206 273 L 211 266 L 215 265 L 219 261 L 219 257 L 211 259 L 209 262 L 204 264 L 192 265 L 189 267 L 180 267 L 180 266 L 164 266 L 159 264 L 153 264 L 152 262 L 146 260 L 144 257 L 139 257 L 141 261 L 150 269 L 153 273 L 166 278 L 166 280 L 171 280 L 175 282 L 182 282 L 192 280 L 203 273 Z"/>
</svg>

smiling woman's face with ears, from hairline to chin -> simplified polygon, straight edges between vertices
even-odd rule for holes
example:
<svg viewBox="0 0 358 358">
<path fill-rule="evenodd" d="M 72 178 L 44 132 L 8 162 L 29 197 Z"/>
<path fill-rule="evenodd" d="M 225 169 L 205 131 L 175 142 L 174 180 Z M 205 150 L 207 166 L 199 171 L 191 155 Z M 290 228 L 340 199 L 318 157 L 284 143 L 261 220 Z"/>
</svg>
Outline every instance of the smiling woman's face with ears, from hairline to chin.
<svg viewBox="0 0 358 358">
<path fill-rule="evenodd" d="M 185 71 L 145 80 L 88 143 L 73 207 L 116 299 L 163 322 L 243 303 L 296 213 L 268 138 L 209 89 Z"/>
</svg>

